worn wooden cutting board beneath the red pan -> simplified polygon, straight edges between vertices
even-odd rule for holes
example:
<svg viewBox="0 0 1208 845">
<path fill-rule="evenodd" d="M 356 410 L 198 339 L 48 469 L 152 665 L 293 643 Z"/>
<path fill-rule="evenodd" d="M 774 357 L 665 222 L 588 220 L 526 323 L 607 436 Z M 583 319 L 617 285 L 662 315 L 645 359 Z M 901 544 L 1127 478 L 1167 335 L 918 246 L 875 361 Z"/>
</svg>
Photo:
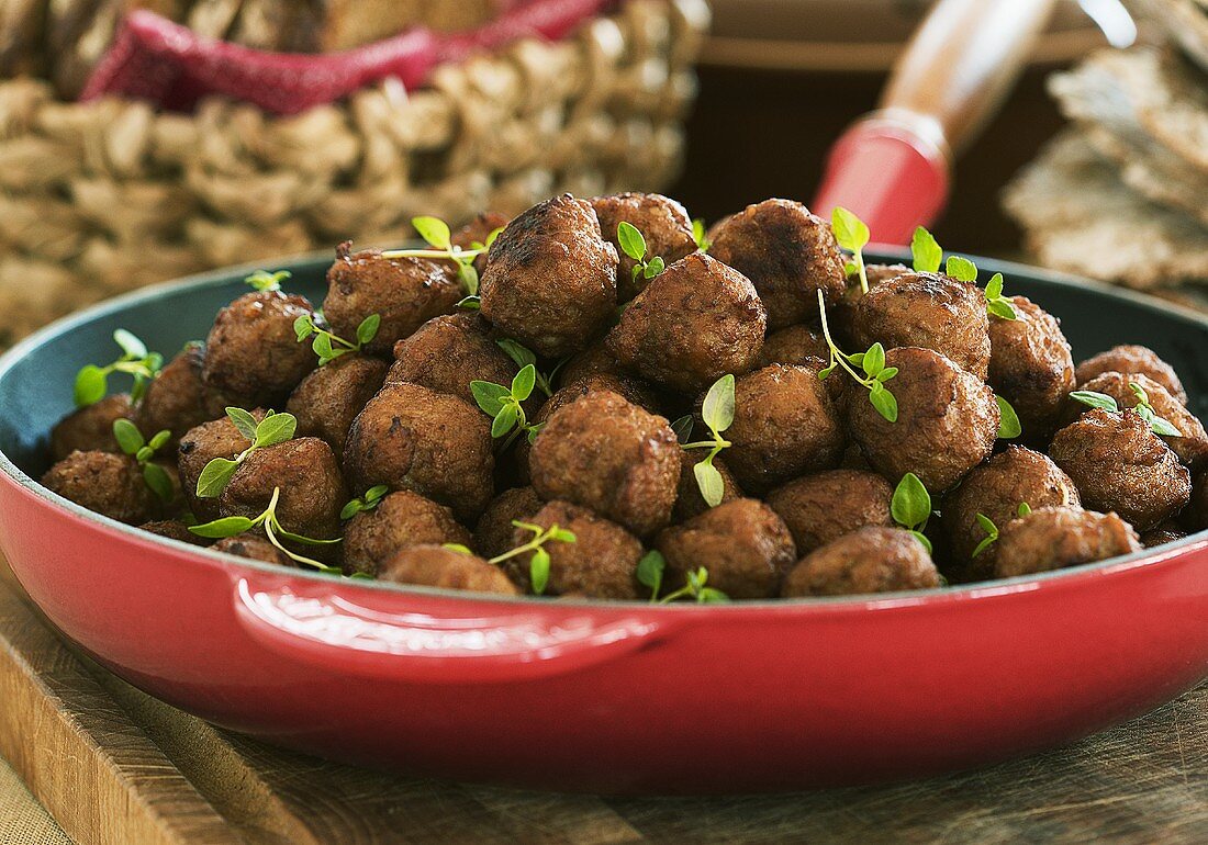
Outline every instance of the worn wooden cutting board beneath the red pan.
<svg viewBox="0 0 1208 845">
<path fill-rule="evenodd" d="M 68 648 L 8 578 L 0 756 L 81 845 L 1208 841 L 1208 684 L 1068 748 L 922 782 L 557 796 L 355 769 L 219 730 Z"/>
</svg>

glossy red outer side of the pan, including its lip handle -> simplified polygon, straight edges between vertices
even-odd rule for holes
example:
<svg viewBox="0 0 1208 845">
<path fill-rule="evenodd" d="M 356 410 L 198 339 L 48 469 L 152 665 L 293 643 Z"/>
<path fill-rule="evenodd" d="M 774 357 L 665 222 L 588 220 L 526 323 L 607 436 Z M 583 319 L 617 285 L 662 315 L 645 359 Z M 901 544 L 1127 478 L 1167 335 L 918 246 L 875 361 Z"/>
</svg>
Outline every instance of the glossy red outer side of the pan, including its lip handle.
<svg viewBox="0 0 1208 845">
<path fill-rule="evenodd" d="M 63 631 L 191 712 L 333 758 L 554 789 L 945 771 L 1067 742 L 1208 671 L 1203 537 L 873 601 L 490 601 L 236 563 L 2 474 L 0 544 Z"/>
</svg>

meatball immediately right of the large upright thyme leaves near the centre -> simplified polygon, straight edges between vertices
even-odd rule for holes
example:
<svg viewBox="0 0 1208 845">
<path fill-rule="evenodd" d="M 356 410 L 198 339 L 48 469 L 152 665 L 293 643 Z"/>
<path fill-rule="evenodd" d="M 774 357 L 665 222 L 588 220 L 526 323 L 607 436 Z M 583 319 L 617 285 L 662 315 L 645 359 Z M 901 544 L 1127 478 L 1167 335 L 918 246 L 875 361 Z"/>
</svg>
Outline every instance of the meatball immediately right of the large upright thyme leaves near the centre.
<svg viewBox="0 0 1208 845">
<path fill-rule="evenodd" d="M 818 373 L 772 365 L 734 383 L 734 421 L 722 454 L 744 490 L 761 493 L 837 467 L 847 443 L 838 404 Z"/>
</svg>

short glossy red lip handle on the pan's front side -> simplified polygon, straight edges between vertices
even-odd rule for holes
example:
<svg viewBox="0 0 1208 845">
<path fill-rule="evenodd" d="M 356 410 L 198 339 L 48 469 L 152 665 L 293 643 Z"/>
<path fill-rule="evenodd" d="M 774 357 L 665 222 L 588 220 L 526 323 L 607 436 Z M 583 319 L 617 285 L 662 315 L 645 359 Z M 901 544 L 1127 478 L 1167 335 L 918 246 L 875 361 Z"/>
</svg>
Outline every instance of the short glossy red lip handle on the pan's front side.
<svg viewBox="0 0 1208 845">
<path fill-rule="evenodd" d="M 236 581 L 234 608 L 261 645 L 333 672 L 424 683 L 489 683 L 573 672 L 649 646 L 664 622 L 649 613 L 534 607 L 482 599 L 417 596 L 414 610 L 397 610 L 406 596 L 354 601 L 353 590 L 256 587 Z M 367 606 L 367 605 L 377 605 Z M 385 606 L 391 610 L 384 610 Z M 645 617 L 645 618 L 643 618 Z"/>
</svg>

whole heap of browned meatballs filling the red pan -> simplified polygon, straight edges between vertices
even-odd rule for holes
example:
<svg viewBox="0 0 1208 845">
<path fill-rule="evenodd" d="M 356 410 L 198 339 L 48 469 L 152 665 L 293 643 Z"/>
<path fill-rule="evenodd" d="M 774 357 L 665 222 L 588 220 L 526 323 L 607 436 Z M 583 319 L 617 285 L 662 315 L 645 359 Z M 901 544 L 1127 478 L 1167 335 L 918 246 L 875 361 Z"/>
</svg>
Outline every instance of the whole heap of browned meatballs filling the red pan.
<svg viewBox="0 0 1208 845">
<path fill-rule="evenodd" d="M 634 272 L 621 222 L 666 269 Z M 344 575 L 492 594 L 533 592 L 533 553 L 489 563 L 533 538 L 516 523 L 559 526 L 575 542 L 544 546 L 542 594 L 609 600 L 651 596 L 637 575 L 650 552 L 662 555 L 664 595 L 704 569 L 710 588 L 743 600 L 1036 573 L 1208 529 L 1208 435 L 1146 348 L 1075 367 L 1040 305 L 1016 296 L 1015 320 L 993 316 L 976 284 L 939 272 L 870 266 L 864 292 L 830 223 L 784 199 L 718 222 L 705 250 L 679 203 L 639 193 L 556 197 L 511 221 L 483 215 L 453 243 L 467 249 L 500 228 L 476 258 L 481 310 L 466 308 L 453 261 L 347 244 L 321 311 L 288 282 L 240 296 L 138 402 L 111 395 L 65 418 L 42 483 L 199 544 L 209 541 L 190 520 L 252 518 L 278 491 L 281 528 L 339 538 L 304 550 Z M 895 421 L 842 369 L 819 378 L 831 362 L 820 302 L 847 354 L 887 350 Z M 324 366 L 295 334 L 309 316 L 352 338 L 374 314 L 373 340 Z M 493 437 L 471 391 L 516 377 L 505 339 L 530 350 L 552 385 L 524 401 L 539 426 L 532 442 Z M 705 451 L 683 448 L 670 421 L 695 416 L 699 438 L 702 396 L 726 374 L 733 422 L 710 506 L 693 472 Z M 1180 436 L 1152 431 L 1134 384 Z M 1075 390 L 1120 409 L 1088 408 Z M 1011 442 L 998 437 L 995 394 L 1022 422 Z M 291 413 L 296 437 L 255 449 L 220 496 L 202 499 L 207 464 L 250 445 L 227 407 Z M 122 418 L 147 438 L 172 432 L 157 459 L 179 479 L 172 502 L 115 444 Z M 894 519 L 907 473 L 933 500 L 929 543 Z M 373 488 L 387 489 L 376 506 L 342 519 Z M 296 565 L 262 530 L 213 548 Z"/>
</svg>

